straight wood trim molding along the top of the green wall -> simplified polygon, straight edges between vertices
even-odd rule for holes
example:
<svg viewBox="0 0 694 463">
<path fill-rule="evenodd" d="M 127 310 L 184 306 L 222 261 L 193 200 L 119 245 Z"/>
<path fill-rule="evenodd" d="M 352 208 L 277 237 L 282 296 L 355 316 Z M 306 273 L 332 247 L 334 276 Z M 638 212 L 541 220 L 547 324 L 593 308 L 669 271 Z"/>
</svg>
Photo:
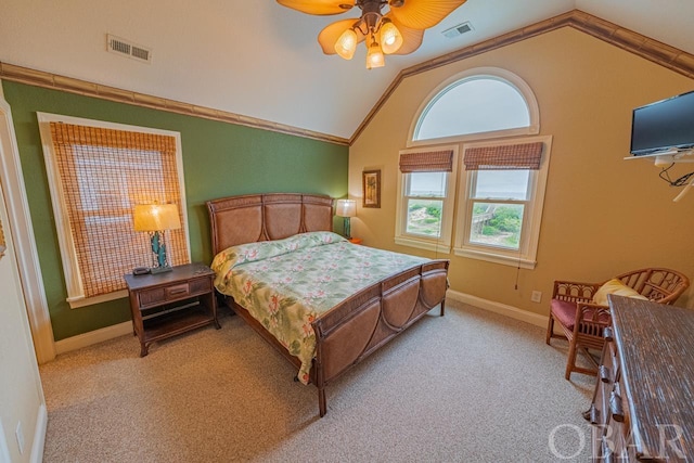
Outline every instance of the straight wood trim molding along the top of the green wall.
<svg viewBox="0 0 694 463">
<path fill-rule="evenodd" d="M 226 111 L 215 110 L 211 107 L 197 106 L 180 101 L 167 100 L 165 98 L 153 97 L 129 90 L 121 90 L 114 87 L 102 86 L 100 83 L 92 83 L 86 80 L 74 79 L 72 77 L 16 66 L 10 63 L 0 62 L 0 79 L 115 101 L 118 103 L 128 103 L 136 106 L 150 107 L 169 113 L 183 114 L 187 116 L 220 120 L 222 123 L 234 124 L 237 126 L 253 127 L 256 129 L 325 141 L 329 143 L 340 145 L 349 144 L 349 140 L 340 137 L 299 129 L 284 124 L 271 123 L 269 120 L 228 113 Z"/>
</svg>

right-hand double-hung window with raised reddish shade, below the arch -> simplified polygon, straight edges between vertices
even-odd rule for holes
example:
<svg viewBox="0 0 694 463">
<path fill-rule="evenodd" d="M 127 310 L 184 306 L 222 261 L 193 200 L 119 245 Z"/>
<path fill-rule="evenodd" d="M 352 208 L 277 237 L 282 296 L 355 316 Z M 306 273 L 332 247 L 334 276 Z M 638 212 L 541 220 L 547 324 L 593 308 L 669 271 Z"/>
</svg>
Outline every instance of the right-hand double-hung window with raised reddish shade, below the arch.
<svg viewBox="0 0 694 463">
<path fill-rule="evenodd" d="M 534 268 L 551 137 L 467 143 L 455 254 Z"/>
</svg>

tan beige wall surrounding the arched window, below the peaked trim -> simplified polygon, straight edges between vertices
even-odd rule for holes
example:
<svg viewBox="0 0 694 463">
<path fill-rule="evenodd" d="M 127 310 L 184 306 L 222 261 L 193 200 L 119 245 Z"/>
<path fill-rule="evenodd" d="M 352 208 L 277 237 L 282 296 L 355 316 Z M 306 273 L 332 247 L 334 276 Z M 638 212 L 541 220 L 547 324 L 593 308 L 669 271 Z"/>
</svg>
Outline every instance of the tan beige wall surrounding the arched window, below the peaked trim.
<svg viewBox="0 0 694 463">
<path fill-rule="evenodd" d="M 517 290 L 514 267 L 394 243 L 398 151 L 412 119 L 444 80 L 481 66 L 524 79 L 539 103 L 540 134 L 553 136 L 538 263 L 519 271 Z M 351 197 L 361 197 L 362 170 L 380 168 L 383 179 L 382 207 L 359 205 L 352 235 L 370 246 L 450 258 L 451 290 L 542 316 L 555 279 L 602 281 L 643 267 L 694 279 L 694 192 L 673 203 L 680 190 L 658 178 L 653 162 L 624 160 L 631 111 L 692 89 L 692 79 L 568 27 L 409 77 L 350 149 Z M 694 164 L 672 170 L 678 178 Z M 534 290 L 542 303 L 530 301 Z M 678 305 L 694 307 L 692 294 Z"/>
</svg>

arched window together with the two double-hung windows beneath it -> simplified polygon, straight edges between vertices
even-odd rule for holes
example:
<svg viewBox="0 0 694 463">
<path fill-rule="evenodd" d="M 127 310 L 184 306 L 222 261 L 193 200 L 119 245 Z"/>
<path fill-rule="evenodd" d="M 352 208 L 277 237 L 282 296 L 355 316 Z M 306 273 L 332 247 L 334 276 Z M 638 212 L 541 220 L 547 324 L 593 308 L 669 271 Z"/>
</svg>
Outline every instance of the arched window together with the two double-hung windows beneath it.
<svg viewBox="0 0 694 463">
<path fill-rule="evenodd" d="M 539 128 L 535 94 L 513 73 L 476 68 L 439 85 L 400 152 L 396 242 L 447 253 L 454 237 L 458 256 L 534 268 L 552 142 Z M 427 160 L 444 149 L 461 155 L 458 193 L 455 168 Z M 417 159 L 416 169 L 403 169 L 403 158 Z M 422 189 L 434 176 L 442 187 Z"/>
</svg>

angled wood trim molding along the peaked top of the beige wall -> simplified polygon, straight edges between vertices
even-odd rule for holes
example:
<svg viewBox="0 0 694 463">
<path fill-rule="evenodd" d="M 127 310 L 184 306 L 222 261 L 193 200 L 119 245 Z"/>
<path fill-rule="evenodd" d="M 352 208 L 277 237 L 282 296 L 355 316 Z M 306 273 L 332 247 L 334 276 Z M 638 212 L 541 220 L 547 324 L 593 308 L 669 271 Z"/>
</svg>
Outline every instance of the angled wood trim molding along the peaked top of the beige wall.
<svg viewBox="0 0 694 463">
<path fill-rule="evenodd" d="M 349 144 L 351 145 L 355 143 L 357 138 L 359 138 L 369 123 L 371 123 L 371 119 L 373 119 L 378 110 L 381 110 L 393 92 L 398 88 L 400 82 L 402 82 L 407 77 L 516 43 L 562 27 L 573 27 L 597 39 L 604 40 L 615 47 L 619 47 L 630 53 L 634 53 L 645 60 L 659 64 L 660 66 L 665 66 L 676 73 L 682 74 L 683 76 L 694 78 L 694 55 L 691 53 L 642 36 L 633 30 L 624 28 L 608 21 L 601 20 L 597 16 L 593 16 L 580 10 L 573 10 L 568 13 L 535 23 L 530 26 L 513 30 L 402 69 L 351 136 Z"/>
</svg>

